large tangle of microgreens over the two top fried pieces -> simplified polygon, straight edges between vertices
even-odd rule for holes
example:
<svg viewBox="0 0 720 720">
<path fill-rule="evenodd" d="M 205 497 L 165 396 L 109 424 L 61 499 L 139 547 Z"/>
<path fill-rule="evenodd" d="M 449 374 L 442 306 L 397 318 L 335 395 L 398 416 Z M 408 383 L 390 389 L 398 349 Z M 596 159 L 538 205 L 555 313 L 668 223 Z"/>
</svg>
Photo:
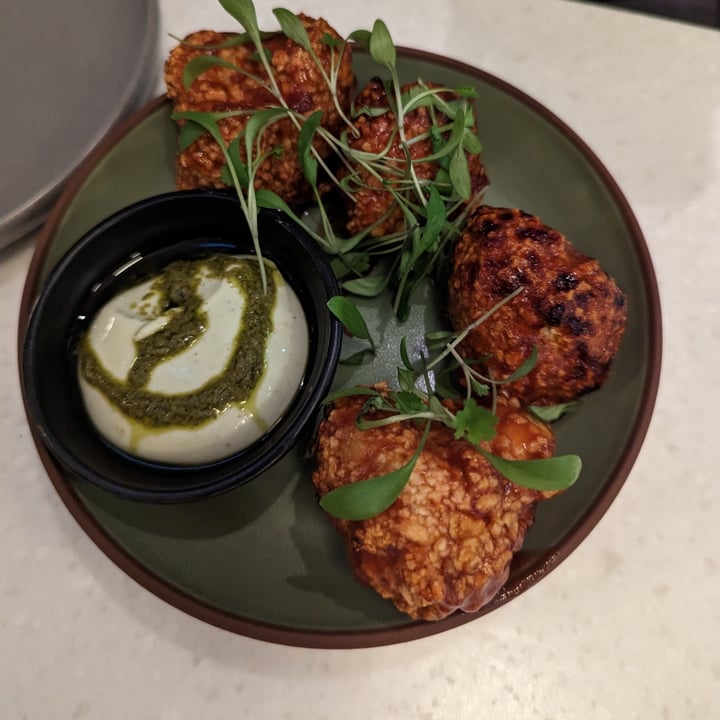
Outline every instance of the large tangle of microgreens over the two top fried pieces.
<svg viewBox="0 0 720 720">
<path fill-rule="evenodd" d="M 200 135 L 207 132 L 220 146 L 225 159 L 221 178 L 238 195 L 240 207 L 247 218 L 255 252 L 261 255 L 258 238 L 257 213 L 259 208 L 279 209 L 302 224 L 332 259 L 332 267 L 349 293 L 375 297 L 388 287 L 393 289 L 393 310 L 400 320 L 407 318 L 414 290 L 437 267 L 451 242 L 462 226 L 468 208 L 477 201 L 472 195 L 468 169 L 468 155 L 478 154 L 482 145 L 474 132 L 472 102 L 473 88 L 431 87 L 418 79 L 410 90 L 403 91 L 398 71 L 397 52 L 392 36 L 382 20 L 376 20 L 371 31 L 357 30 L 347 39 L 325 35 L 322 42 L 329 50 L 329 63 L 323 62 L 311 43 L 301 20 L 291 11 L 273 10 L 280 29 L 276 33 L 262 32 L 252 0 L 220 0 L 223 8 L 242 26 L 244 32 L 231 36 L 216 46 L 200 46 L 204 50 L 218 50 L 233 45 L 254 48 L 254 71 L 233 64 L 217 55 L 203 54 L 190 60 L 183 73 L 183 83 L 190 88 L 193 82 L 213 67 L 223 67 L 239 73 L 257 83 L 268 95 L 265 107 L 256 110 L 230 110 L 227 112 L 183 111 L 173 118 L 181 124 L 180 149 L 188 148 Z M 281 33 L 302 47 L 330 91 L 333 105 L 344 129 L 332 133 L 322 124 L 322 111 L 300 113 L 291 108 L 283 97 L 275 76 L 269 51 L 263 41 Z M 348 43 L 365 48 L 384 81 L 387 108 L 353 108 L 348 114 L 338 96 L 338 76 L 341 60 Z M 191 47 L 194 47 L 190 45 Z M 197 47 L 197 46 L 195 46 Z M 405 118 L 418 108 L 426 108 L 432 119 L 429 130 L 408 139 Z M 396 129 L 387 145 L 378 152 L 367 152 L 352 145 L 358 130 L 354 121 L 362 114 L 393 113 Z M 222 123 L 229 117 L 247 116 L 240 136 L 230 140 L 223 136 Z M 278 194 L 256 187 L 260 166 L 275 155 L 288 152 L 283 148 L 268 148 L 265 131 L 274 123 L 289 120 L 298 133 L 297 153 L 300 167 L 308 182 L 317 206 L 315 218 L 306 218 L 295 212 Z M 421 141 L 430 140 L 432 152 L 425 157 L 414 157 L 411 149 Z M 402 157 L 392 157 L 391 147 L 397 143 Z M 325 147 L 329 157 L 318 147 Z M 436 163 L 434 178 L 419 177 L 420 163 Z M 340 171 L 333 170 L 339 167 Z M 367 187 L 367 178 L 373 178 L 391 193 L 394 205 L 384 217 L 371 227 L 354 235 L 340 230 L 331 220 L 333 213 L 320 192 L 320 178 L 330 182 L 347 202 L 355 202 L 355 193 Z M 399 208 L 403 219 L 400 230 L 375 237 L 372 231 L 379 227 L 390 213 Z M 262 264 L 261 264 L 261 267 Z"/>
</svg>

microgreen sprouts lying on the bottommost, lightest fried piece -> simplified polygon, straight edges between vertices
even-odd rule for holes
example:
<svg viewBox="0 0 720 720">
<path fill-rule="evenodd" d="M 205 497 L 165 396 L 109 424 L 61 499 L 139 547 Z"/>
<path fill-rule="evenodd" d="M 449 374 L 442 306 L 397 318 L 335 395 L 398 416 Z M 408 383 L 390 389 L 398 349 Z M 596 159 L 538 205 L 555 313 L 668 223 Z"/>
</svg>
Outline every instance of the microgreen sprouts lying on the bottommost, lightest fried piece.
<svg viewBox="0 0 720 720">
<path fill-rule="evenodd" d="M 497 387 L 511 379 L 498 381 L 484 377 L 477 371 L 475 363 L 465 360 L 457 352 L 457 346 L 473 328 L 484 322 L 518 292 L 522 292 L 522 288 L 507 296 L 459 333 L 429 333 L 429 338 L 426 337 L 426 341 L 430 341 L 428 347 L 440 348 L 439 353 L 432 360 L 424 353 L 420 353 L 420 357 L 413 362 L 407 351 L 407 340 L 403 338 L 399 348 L 402 365 L 397 368 L 398 389 L 380 391 L 356 386 L 344 388 L 328 396 L 326 402 L 334 402 L 343 397 L 366 396 L 356 421 L 361 430 L 397 422 L 420 422 L 424 430 L 418 447 L 407 463 L 386 475 L 331 490 L 320 501 L 326 512 L 345 520 L 364 520 L 390 507 L 410 480 L 433 422 L 445 425 L 453 431 L 455 438 L 464 439 L 472 444 L 498 473 L 517 485 L 539 491 L 564 490 L 577 480 L 582 467 L 577 455 L 561 455 L 541 460 L 507 460 L 489 452 L 483 446 L 495 436 L 495 426 L 498 422 L 495 414 Z M 356 309 L 356 312 L 361 318 L 362 325 L 355 312 L 349 310 L 352 306 L 350 301 L 335 297 L 328 306 L 341 322 L 350 321 L 351 326 L 346 325 L 348 332 L 358 337 L 367 334 L 368 342 L 374 347 L 359 310 Z M 357 332 L 359 328 L 360 333 Z M 537 353 L 533 352 L 512 374 L 512 380 L 517 380 L 531 372 L 536 359 Z M 461 403 L 443 402 L 438 392 L 438 384 L 432 381 L 431 372 L 439 370 L 443 362 L 448 364 L 445 372 L 457 372 L 459 369 L 466 379 L 466 393 Z M 479 405 L 473 391 L 475 395 L 480 396 L 492 393 L 493 408 L 488 409 Z M 456 409 L 458 404 L 460 407 Z"/>
</svg>

